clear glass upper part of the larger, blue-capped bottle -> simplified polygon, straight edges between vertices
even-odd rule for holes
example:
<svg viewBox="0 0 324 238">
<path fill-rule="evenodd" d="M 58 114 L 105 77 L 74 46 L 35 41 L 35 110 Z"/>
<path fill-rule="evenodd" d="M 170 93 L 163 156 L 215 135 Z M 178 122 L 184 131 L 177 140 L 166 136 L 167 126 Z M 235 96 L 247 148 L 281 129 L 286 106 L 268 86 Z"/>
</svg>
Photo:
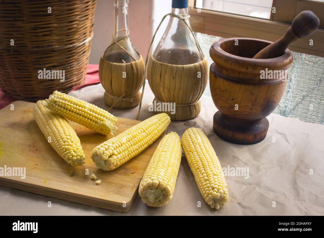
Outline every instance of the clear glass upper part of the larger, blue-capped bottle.
<svg viewBox="0 0 324 238">
<path fill-rule="evenodd" d="M 188 17 L 188 1 L 172 0 L 172 13 Z M 185 21 L 190 26 L 189 19 Z M 187 25 L 183 20 L 172 16 L 153 53 L 153 58 L 158 62 L 174 65 L 193 64 L 203 60 Z"/>
</svg>

